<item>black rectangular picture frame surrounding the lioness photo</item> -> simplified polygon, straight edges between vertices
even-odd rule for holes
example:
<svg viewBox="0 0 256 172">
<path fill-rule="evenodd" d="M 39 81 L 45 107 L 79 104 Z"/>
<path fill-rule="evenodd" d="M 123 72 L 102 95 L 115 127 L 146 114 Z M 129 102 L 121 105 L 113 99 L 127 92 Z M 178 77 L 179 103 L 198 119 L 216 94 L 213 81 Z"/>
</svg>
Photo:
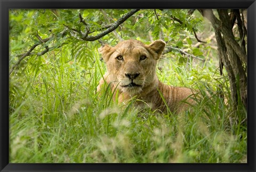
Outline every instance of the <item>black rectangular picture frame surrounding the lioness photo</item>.
<svg viewBox="0 0 256 172">
<path fill-rule="evenodd" d="M 248 132 L 245 164 L 10 164 L 9 8 L 246 8 L 248 36 Z M 0 171 L 255 171 L 255 0 L 0 0 Z"/>
</svg>

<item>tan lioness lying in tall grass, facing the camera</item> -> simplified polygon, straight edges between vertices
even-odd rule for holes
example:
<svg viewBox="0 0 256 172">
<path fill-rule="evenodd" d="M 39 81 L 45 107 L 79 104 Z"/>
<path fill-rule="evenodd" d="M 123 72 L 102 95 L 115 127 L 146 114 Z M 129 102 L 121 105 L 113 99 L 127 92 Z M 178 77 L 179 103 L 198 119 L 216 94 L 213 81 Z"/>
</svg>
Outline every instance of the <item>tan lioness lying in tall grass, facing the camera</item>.
<svg viewBox="0 0 256 172">
<path fill-rule="evenodd" d="M 125 40 L 115 47 L 105 45 L 99 48 L 107 64 L 107 72 L 100 80 L 97 91 L 100 91 L 102 84 L 106 82 L 111 84 L 113 98 L 118 98 L 118 102 L 135 96 L 150 105 L 153 110 L 166 112 L 165 102 L 172 112 L 187 109 L 188 104 L 185 101 L 193 102 L 190 97 L 193 91 L 163 84 L 157 78 L 156 64 L 164 48 L 165 42 L 162 40 L 156 40 L 150 45 L 138 40 Z"/>
</svg>

